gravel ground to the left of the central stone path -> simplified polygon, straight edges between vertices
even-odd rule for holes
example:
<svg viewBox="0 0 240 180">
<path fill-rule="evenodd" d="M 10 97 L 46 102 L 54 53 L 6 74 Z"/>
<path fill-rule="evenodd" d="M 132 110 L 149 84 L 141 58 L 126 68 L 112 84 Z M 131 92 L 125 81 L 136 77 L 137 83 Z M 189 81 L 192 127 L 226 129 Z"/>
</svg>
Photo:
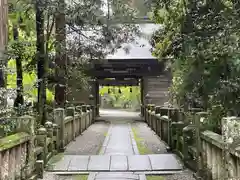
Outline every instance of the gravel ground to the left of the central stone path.
<svg viewBox="0 0 240 180">
<path fill-rule="evenodd" d="M 91 125 L 82 135 L 76 138 L 76 141 L 67 145 L 65 154 L 69 155 L 96 155 L 103 144 L 108 132 L 109 123 L 96 122 Z M 81 176 L 73 175 L 54 175 L 51 172 L 45 172 L 43 180 L 82 180 Z M 40 180 L 40 179 L 39 179 Z"/>
</svg>

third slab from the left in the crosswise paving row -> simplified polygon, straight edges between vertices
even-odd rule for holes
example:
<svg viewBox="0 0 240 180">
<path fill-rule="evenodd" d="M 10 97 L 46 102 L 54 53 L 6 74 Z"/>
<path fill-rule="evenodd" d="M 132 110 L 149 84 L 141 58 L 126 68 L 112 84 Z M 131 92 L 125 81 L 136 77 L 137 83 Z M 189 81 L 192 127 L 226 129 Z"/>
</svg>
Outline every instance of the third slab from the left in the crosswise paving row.
<svg viewBox="0 0 240 180">
<path fill-rule="evenodd" d="M 90 156 L 88 171 L 109 171 L 110 169 L 110 156 Z"/>
</svg>

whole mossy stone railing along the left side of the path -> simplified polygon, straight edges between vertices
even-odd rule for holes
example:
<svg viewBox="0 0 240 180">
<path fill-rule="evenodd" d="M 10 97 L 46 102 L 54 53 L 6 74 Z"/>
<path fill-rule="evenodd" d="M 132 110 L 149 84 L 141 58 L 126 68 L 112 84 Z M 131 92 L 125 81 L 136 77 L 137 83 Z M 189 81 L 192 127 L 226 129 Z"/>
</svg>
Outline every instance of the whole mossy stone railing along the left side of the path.
<svg viewBox="0 0 240 180">
<path fill-rule="evenodd" d="M 0 139 L 0 179 L 42 178 L 48 160 L 94 122 L 94 109 L 55 109 L 54 122 L 38 128 L 34 117 L 18 117 L 16 133 Z"/>
</svg>

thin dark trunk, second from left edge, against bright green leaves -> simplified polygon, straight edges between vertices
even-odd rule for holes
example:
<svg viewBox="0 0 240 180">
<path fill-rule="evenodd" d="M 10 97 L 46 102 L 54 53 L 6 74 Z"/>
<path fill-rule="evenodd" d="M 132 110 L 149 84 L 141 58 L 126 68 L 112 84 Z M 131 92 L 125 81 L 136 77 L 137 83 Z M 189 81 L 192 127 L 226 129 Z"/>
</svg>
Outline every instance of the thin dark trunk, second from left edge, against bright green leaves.
<svg viewBox="0 0 240 180">
<path fill-rule="evenodd" d="M 13 40 L 18 42 L 19 40 L 19 32 L 18 26 L 13 25 Z M 14 101 L 14 107 L 19 108 L 24 103 L 23 99 L 23 69 L 22 69 L 22 58 L 21 55 L 18 54 L 16 57 L 16 71 L 17 71 L 17 97 Z"/>
</svg>

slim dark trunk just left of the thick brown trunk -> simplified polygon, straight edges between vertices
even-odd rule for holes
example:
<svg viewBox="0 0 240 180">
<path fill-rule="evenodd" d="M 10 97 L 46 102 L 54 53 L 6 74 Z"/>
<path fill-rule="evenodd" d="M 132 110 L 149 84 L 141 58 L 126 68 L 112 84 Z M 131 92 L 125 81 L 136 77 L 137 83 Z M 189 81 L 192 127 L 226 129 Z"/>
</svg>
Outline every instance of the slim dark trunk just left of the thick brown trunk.
<svg viewBox="0 0 240 180">
<path fill-rule="evenodd" d="M 45 39 L 44 39 L 44 7 L 42 0 L 36 1 L 36 31 L 37 31 L 37 75 L 38 75 L 38 113 L 39 122 L 46 121 L 46 83 L 45 83 Z"/>
</svg>

